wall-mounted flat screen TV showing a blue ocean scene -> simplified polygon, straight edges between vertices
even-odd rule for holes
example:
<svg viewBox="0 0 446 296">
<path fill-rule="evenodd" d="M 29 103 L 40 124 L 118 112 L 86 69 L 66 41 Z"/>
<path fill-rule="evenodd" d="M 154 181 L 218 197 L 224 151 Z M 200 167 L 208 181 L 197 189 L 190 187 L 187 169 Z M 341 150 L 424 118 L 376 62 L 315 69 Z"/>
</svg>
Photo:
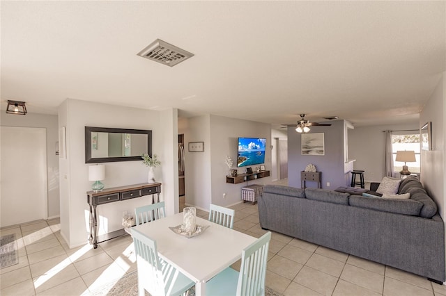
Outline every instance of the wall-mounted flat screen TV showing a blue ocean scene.
<svg viewBox="0 0 446 296">
<path fill-rule="evenodd" d="M 266 139 L 238 138 L 237 167 L 265 163 Z"/>
</svg>

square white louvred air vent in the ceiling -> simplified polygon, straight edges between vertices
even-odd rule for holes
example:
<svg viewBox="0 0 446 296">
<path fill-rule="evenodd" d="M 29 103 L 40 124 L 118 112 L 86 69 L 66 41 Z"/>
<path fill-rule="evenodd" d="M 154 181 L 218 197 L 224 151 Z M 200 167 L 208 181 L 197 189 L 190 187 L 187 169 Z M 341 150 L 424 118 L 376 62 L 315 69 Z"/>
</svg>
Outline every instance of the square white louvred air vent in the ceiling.
<svg viewBox="0 0 446 296">
<path fill-rule="evenodd" d="M 157 39 L 145 49 L 139 51 L 138 56 L 173 67 L 174 65 L 183 62 L 183 60 L 187 60 L 194 56 L 194 54 Z"/>
</svg>

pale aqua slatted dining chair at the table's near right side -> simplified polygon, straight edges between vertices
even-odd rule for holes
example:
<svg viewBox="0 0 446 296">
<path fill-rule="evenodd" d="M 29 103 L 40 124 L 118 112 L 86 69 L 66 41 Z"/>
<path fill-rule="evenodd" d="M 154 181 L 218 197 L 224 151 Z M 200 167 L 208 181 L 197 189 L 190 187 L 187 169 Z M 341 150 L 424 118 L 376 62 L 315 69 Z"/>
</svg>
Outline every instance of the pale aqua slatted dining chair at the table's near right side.
<svg viewBox="0 0 446 296">
<path fill-rule="evenodd" d="M 265 295 L 266 261 L 271 233 L 243 249 L 240 272 L 226 268 L 206 283 L 206 294 L 213 296 Z"/>
</svg>

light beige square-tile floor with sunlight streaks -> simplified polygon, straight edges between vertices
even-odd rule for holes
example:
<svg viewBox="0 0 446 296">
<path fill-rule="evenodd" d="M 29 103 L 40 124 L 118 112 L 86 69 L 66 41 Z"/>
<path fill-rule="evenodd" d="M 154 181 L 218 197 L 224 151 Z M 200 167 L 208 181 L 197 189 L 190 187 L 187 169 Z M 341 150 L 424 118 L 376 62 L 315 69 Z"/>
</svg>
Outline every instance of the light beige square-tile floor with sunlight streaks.
<svg viewBox="0 0 446 296">
<path fill-rule="evenodd" d="M 257 205 L 237 204 L 234 229 L 265 233 Z M 197 211 L 205 219 L 208 212 Z M 35 221 L 0 230 L 16 233 L 19 264 L 0 270 L 0 295 L 89 295 L 136 269 L 132 239 L 122 236 L 97 249 L 69 249 L 59 220 Z M 240 268 L 240 262 L 233 268 Z M 284 295 L 446 295 L 446 286 L 415 274 L 272 233 L 266 285 Z"/>
</svg>

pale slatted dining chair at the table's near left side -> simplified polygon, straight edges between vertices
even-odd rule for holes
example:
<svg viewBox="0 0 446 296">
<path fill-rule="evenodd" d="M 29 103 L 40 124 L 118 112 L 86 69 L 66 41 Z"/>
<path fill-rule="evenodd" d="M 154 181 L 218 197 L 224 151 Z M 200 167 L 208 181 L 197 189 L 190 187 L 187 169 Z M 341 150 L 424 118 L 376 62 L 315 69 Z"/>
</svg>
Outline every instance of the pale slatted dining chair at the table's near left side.
<svg viewBox="0 0 446 296">
<path fill-rule="evenodd" d="M 134 252 L 137 257 L 138 295 L 145 290 L 152 296 L 185 295 L 195 286 L 186 277 L 158 256 L 156 241 L 132 228 Z"/>
</svg>

